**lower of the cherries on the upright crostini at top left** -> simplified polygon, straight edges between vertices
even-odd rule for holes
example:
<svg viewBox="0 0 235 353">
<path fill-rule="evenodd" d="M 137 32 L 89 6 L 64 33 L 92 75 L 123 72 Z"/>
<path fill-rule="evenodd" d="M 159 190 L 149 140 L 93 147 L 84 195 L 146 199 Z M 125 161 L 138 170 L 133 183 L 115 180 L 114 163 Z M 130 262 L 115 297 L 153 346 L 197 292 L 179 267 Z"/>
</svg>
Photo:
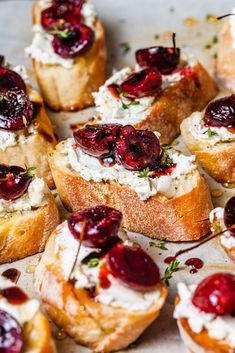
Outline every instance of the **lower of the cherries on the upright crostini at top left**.
<svg viewBox="0 0 235 353">
<path fill-rule="evenodd" d="M 56 54 L 62 58 L 74 58 L 77 55 L 85 54 L 95 40 L 94 31 L 80 23 L 76 26 L 67 26 L 69 35 L 66 38 L 54 36 L 52 46 Z"/>
</svg>

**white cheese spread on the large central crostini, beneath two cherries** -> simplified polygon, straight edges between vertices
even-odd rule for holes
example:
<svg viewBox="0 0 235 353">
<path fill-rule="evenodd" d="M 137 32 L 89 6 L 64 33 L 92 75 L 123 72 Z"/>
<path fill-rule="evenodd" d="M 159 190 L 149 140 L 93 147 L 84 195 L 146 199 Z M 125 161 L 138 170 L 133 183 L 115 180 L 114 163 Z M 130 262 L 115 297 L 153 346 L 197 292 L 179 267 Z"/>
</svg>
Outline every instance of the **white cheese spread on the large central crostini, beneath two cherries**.
<svg viewBox="0 0 235 353">
<path fill-rule="evenodd" d="M 170 157 L 176 163 L 173 172 L 171 175 L 150 179 L 140 178 L 138 171 L 127 170 L 122 165 L 104 167 L 97 158 L 74 148 L 74 144 L 74 139 L 68 139 L 62 153 L 67 157 L 70 167 L 85 180 L 116 181 L 134 190 L 141 200 L 147 200 L 156 194 L 172 198 L 189 192 L 194 187 L 192 172 L 196 169 L 195 156 L 188 157 L 169 150 Z"/>
</svg>

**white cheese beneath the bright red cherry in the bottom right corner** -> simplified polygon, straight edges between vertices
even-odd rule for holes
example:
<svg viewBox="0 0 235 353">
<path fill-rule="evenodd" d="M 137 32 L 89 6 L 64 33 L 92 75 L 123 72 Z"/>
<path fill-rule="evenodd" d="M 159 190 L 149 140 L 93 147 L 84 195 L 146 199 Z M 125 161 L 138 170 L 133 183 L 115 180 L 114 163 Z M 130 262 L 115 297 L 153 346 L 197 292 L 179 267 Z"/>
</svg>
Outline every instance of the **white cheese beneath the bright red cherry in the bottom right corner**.
<svg viewBox="0 0 235 353">
<path fill-rule="evenodd" d="M 231 316 L 216 316 L 205 313 L 192 304 L 192 296 L 196 285 L 178 284 L 180 302 L 174 311 L 175 319 L 186 318 L 191 330 L 200 333 L 203 328 L 211 338 L 225 340 L 230 347 L 235 347 L 235 319 Z"/>
</svg>

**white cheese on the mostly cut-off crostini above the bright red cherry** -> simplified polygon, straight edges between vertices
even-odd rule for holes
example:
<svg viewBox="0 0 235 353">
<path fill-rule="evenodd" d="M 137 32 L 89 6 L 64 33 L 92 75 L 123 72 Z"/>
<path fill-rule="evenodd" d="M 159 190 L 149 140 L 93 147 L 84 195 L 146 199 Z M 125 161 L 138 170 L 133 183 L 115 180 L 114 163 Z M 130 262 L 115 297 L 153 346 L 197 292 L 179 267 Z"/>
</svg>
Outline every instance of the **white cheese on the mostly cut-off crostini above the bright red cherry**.
<svg viewBox="0 0 235 353">
<path fill-rule="evenodd" d="M 223 207 L 216 207 L 214 210 L 211 211 L 210 213 L 210 223 L 213 224 L 215 223 L 221 228 L 221 231 L 225 230 L 225 224 L 224 224 L 224 208 Z M 215 229 L 212 227 L 212 231 L 215 231 Z M 227 249 L 233 249 L 235 248 L 235 236 L 231 235 L 229 231 L 224 232 L 220 236 L 220 241 L 221 244 L 227 248 Z"/>
</svg>

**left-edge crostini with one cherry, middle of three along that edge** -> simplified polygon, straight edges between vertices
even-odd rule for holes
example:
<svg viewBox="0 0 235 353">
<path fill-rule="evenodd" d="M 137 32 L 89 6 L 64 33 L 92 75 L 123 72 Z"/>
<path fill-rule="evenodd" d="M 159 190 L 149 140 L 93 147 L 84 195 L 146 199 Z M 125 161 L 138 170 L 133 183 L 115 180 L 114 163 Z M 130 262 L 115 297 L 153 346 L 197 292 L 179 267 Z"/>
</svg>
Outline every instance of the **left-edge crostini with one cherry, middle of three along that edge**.
<svg viewBox="0 0 235 353">
<path fill-rule="evenodd" d="M 30 169 L 0 164 L 0 263 L 43 251 L 59 224 L 54 196 Z"/>
</svg>

